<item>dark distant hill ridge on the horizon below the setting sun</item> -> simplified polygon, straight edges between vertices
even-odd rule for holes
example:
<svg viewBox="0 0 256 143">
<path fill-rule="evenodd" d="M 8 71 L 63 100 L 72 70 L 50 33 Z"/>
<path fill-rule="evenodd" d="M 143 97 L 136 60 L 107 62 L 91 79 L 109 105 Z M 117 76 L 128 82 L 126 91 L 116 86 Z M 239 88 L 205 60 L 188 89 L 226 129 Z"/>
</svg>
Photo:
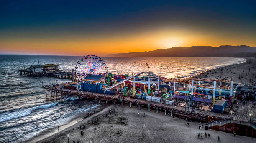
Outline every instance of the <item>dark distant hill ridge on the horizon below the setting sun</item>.
<svg viewBox="0 0 256 143">
<path fill-rule="evenodd" d="M 157 49 L 146 52 L 111 54 L 114 57 L 256 57 L 256 47 L 240 46 L 191 46 Z"/>
</svg>

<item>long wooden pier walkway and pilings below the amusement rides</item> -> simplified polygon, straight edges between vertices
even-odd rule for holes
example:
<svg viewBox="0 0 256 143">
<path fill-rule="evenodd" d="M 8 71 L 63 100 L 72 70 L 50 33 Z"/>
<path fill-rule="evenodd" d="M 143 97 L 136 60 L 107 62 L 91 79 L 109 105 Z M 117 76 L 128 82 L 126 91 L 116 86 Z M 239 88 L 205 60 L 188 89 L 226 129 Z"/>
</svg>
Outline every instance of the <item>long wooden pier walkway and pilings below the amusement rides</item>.
<svg viewBox="0 0 256 143">
<path fill-rule="evenodd" d="M 170 116 L 170 118 L 176 117 L 186 121 L 205 123 L 205 130 L 209 128 L 228 133 L 242 131 L 242 136 L 256 137 L 255 123 L 234 120 L 233 116 L 230 114 L 215 113 L 198 108 L 194 108 L 195 112 L 190 112 L 184 106 L 169 105 L 146 100 L 136 100 L 131 97 L 123 97 L 121 94 L 108 95 L 72 89 L 63 89 L 61 85 L 62 84 L 42 86 L 45 89 L 46 98 L 74 96 L 78 99 L 96 100 L 99 101 L 99 103 L 105 104 L 119 104 L 120 106 L 126 104 L 127 106 L 136 107 L 137 109 L 146 108 L 148 111 L 153 111 L 156 113 L 162 112 L 165 115 Z"/>
</svg>

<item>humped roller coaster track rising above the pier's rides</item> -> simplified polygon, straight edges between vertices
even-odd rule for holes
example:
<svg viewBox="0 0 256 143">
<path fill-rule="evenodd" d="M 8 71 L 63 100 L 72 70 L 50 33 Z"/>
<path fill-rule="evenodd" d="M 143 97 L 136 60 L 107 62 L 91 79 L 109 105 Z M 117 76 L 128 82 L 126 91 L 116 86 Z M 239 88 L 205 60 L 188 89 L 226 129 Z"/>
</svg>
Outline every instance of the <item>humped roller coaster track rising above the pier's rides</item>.
<svg viewBox="0 0 256 143">
<path fill-rule="evenodd" d="M 136 76 L 139 76 L 139 75 L 142 75 L 144 74 L 143 76 L 145 76 L 145 74 L 147 76 L 154 76 L 155 78 L 159 78 L 161 79 L 163 82 L 161 82 L 160 84 L 163 84 L 165 82 L 181 82 L 181 83 L 185 83 L 185 84 L 191 84 L 192 83 L 192 80 L 194 81 L 208 81 L 208 82 L 213 82 L 213 81 L 216 81 L 216 82 L 230 82 L 230 80 L 227 80 L 227 79 L 196 79 L 196 78 L 184 78 L 184 77 L 181 77 L 181 78 L 173 78 L 173 79 L 167 79 L 165 77 L 161 77 L 161 76 L 158 76 L 157 74 L 154 74 L 153 72 L 145 72 L 145 71 L 141 71 L 141 72 L 138 72 L 138 74 L 135 74 L 131 77 L 128 77 L 127 79 L 124 79 L 123 81 L 121 82 L 118 82 L 117 84 L 114 84 L 110 87 L 107 87 L 105 88 L 106 90 L 110 90 L 110 89 L 113 89 L 114 87 L 120 85 L 120 84 L 123 84 L 125 81 L 129 81 L 130 79 L 133 79 L 135 78 Z M 208 88 L 208 89 L 213 89 L 213 85 L 206 85 L 206 84 L 195 84 L 195 86 L 197 87 L 202 87 L 202 88 Z M 220 85 L 216 85 L 216 89 L 230 89 L 230 86 L 220 86 Z"/>
</svg>

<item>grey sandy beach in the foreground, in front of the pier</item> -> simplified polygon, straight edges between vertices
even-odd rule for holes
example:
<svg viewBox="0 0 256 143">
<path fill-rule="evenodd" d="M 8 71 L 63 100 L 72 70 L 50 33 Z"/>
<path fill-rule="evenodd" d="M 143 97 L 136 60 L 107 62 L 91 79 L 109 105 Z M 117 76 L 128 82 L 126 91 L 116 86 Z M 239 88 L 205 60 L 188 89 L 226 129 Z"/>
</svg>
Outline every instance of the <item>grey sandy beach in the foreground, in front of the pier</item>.
<svg viewBox="0 0 256 143">
<path fill-rule="evenodd" d="M 116 116 L 110 115 L 109 109 L 115 109 Z M 108 113 L 108 117 L 105 117 Z M 137 116 L 139 113 L 139 116 Z M 145 117 L 143 117 L 145 113 Z M 93 125 L 92 120 L 99 118 L 99 121 Z M 135 106 L 111 105 L 99 113 L 87 118 L 79 123 L 66 128 L 53 136 L 38 141 L 38 143 L 67 143 L 67 134 L 69 134 L 69 143 L 80 141 L 80 143 L 215 143 L 220 136 L 220 142 L 225 143 L 254 143 L 255 138 L 236 136 L 233 134 L 215 131 L 199 130 L 199 123 L 189 122 L 190 126 L 185 126 L 186 121 L 179 118 L 172 118 L 162 112 L 148 111 L 145 108 L 136 109 Z M 78 125 L 85 125 L 84 130 L 77 129 Z M 144 137 L 142 137 L 142 128 L 144 127 Z M 57 130 L 57 128 L 56 128 Z M 80 132 L 84 131 L 81 136 Z M 210 133 L 211 137 L 198 139 L 198 133 Z"/>
</svg>

